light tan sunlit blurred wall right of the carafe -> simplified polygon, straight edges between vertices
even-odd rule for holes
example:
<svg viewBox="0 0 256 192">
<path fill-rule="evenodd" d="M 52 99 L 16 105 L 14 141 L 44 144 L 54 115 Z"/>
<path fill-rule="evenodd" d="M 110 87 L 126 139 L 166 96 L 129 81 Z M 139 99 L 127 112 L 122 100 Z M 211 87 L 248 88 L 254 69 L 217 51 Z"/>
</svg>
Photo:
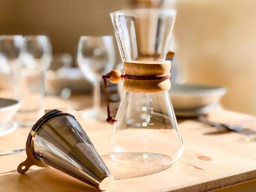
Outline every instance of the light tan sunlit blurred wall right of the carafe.
<svg viewBox="0 0 256 192">
<path fill-rule="evenodd" d="M 227 88 L 225 108 L 256 115 L 256 1 L 177 1 L 185 81 Z"/>
</svg>

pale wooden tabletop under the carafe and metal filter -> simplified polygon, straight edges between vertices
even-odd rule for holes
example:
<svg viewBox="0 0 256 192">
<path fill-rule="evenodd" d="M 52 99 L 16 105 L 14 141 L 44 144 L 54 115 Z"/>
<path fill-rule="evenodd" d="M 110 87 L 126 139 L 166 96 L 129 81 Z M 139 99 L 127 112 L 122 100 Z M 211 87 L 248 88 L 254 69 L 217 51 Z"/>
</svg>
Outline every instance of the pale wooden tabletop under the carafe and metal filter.
<svg viewBox="0 0 256 192">
<path fill-rule="evenodd" d="M 90 103 L 83 97 L 69 100 L 48 97 L 46 106 L 81 109 L 86 106 L 81 105 L 81 100 Z M 181 120 L 179 128 L 185 150 L 177 163 L 156 174 L 115 180 L 107 191 L 209 191 L 256 179 L 256 142 L 248 138 L 248 134 L 256 133 L 256 118 L 228 111 L 218 111 L 209 118 L 244 123 L 244 130 L 220 133 L 197 120 Z M 107 155 L 112 126 L 91 120 L 84 129 L 114 177 L 126 174 L 125 169 L 115 169 Z M 17 129 L 0 138 L 0 151 L 24 148 L 28 133 L 29 129 Z M 16 168 L 25 158 L 26 154 L 0 157 L 0 191 L 97 191 L 53 168 L 33 166 L 25 175 L 20 175 Z M 140 176 L 140 173 L 132 175 Z"/>
</svg>

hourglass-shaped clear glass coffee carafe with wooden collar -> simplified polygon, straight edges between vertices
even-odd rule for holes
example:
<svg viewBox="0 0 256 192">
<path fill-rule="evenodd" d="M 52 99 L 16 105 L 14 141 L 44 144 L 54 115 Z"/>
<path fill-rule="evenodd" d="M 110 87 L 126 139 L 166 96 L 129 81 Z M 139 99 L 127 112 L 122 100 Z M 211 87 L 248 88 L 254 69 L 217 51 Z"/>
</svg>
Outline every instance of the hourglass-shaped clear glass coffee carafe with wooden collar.
<svg viewBox="0 0 256 192">
<path fill-rule="evenodd" d="M 111 13 L 124 63 L 124 91 L 110 140 L 110 156 L 118 163 L 169 167 L 182 155 L 168 92 L 170 61 L 164 61 L 175 17 L 175 10 L 160 9 Z"/>
</svg>

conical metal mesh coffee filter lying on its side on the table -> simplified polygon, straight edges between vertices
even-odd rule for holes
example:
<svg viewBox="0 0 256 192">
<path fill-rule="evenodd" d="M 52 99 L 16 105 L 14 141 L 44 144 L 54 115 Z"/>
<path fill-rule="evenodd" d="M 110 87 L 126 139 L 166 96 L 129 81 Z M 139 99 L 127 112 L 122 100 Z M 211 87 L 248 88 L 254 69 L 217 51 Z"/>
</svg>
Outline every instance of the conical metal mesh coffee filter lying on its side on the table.
<svg viewBox="0 0 256 192">
<path fill-rule="evenodd" d="M 26 144 L 27 159 L 17 171 L 48 165 L 100 190 L 110 186 L 113 177 L 76 118 L 59 110 L 41 117 L 31 129 Z"/>
</svg>

